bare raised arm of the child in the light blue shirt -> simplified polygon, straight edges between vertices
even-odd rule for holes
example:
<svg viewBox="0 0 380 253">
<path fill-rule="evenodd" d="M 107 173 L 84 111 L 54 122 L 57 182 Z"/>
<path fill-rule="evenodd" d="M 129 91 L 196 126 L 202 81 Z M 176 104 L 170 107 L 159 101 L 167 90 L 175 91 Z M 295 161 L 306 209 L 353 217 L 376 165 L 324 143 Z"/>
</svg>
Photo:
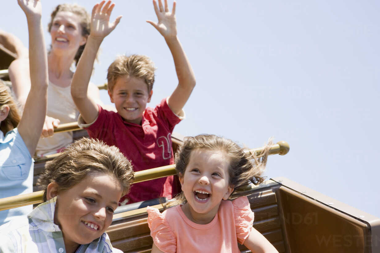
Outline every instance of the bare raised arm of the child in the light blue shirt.
<svg viewBox="0 0 380 253">
<path fill-rule="evenodd" d="M 41 2 L 39 0 L 18 0 L 17 2 L 27 17 L 30 62 L 30 91 L 17 129 L 33 156 L 46 116 L 47 52 L 41 24 Z"/>
</svg>

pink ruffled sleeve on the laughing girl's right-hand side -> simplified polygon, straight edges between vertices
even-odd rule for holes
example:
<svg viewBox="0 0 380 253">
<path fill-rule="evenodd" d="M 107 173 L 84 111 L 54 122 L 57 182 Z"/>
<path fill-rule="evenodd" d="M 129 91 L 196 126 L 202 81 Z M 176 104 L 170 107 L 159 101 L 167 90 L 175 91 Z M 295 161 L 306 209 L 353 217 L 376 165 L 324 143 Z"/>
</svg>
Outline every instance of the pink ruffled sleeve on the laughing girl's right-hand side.
<svg viewBox="0 0 380 253">
<path fill-rule="evenodd" d="M 236 198 L 232 204 L 234 206 L 237 241 L 239 244 L 243 244 L 251 232 L 254 215 L 246 196 Z"/>
</svg>

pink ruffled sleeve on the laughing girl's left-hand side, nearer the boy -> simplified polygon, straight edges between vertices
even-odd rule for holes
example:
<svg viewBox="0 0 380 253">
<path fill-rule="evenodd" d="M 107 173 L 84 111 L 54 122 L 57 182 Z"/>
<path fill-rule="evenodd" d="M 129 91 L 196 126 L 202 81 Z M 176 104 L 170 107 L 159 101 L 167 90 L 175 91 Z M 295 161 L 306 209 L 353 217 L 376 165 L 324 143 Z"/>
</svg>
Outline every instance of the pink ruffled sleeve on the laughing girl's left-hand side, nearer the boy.
<svg viewBox="0 0 380 253">
<path fill-rule="evenodd" d="M 150 228 L 150 236 L 153 238 L 154 244 L 161 251 L 166 253 L 176 253 L 177 240 L 171 230 L 169 223 L 163 214 L 157 208 L 148 206 L 148 226 Z"/>
</svg>

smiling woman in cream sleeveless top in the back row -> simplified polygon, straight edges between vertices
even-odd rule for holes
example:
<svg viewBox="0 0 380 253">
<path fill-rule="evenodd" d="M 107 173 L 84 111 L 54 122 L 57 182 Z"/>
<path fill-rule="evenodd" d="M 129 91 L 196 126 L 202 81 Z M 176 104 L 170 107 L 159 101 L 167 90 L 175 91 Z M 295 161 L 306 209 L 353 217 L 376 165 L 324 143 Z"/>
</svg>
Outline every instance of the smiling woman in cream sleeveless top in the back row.
<svg viewBox="0 0 380 253">
<path fill-rule="evenodd" d="M 51 49 L 47 56 L 49 89 L 47 113 L 41 137 L 36 148 L 37 156 L 62 151 L 73 141 L 72 132 L 54 134 L 59 123 L 76 121 L 79 112 L 71 98 L 72 65 L 78 63 L 87 37 L 90 34 L 90 16 L 86 9 L 75 4 L 61 4 L 51 13 L 48 24 L 51 35 Z M 23 107 L 30 90 L 29 61 L 18 58 L 9 66 L 9 79 L 12 82 L 17 101 Z M 90 83 L 89 94 L 100 101 L 97 86 Z"/>
</svg>

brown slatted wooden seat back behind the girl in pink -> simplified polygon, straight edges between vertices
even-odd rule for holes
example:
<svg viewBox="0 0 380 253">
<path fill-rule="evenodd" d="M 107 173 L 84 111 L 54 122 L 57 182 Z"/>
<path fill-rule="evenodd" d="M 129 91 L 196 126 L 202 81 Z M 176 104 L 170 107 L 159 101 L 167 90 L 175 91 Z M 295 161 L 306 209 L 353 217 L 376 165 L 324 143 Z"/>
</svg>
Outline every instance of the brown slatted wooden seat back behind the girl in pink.
<svg viewBox="0 0 380 253">
<path fill-rule="evenodd" d="M 264 187 L 253 189 L 236 196 L 247 195 L 252 211 L 255 212 L 253 227 L 263 233 L 279 252 L 285 252 L 282 226 L 274 188 Z M 150 237 L 145 209 L 125 212 L 123 217 L 118 216 L 107 229 L 109 238 L 114 247 L 124 252 L 150 252 L 153 240 Z M 243 245 L 239 246 L 241 252 L 250 252 Z"/>
</svg>

